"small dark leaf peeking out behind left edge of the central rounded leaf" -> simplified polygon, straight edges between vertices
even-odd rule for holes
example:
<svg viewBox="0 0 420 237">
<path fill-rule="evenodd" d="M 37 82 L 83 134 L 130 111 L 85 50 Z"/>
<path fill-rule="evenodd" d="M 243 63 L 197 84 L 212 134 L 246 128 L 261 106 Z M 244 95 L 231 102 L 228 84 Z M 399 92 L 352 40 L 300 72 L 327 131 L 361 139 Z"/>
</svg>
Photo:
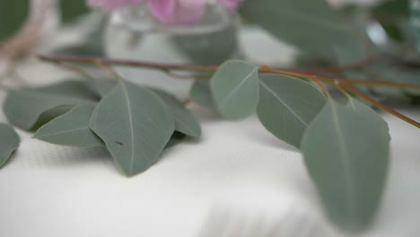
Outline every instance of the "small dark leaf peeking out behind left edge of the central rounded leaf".
<svg viewBox="0 0 420 237">
<path fill-rule="evenodd" d="M 213 95 L 210 90 L 210 80 L 196 80 L 189 91 L 189 98 L 191 101 L 194 101 L 208 109 L 216 108 Z"/>
</svg>

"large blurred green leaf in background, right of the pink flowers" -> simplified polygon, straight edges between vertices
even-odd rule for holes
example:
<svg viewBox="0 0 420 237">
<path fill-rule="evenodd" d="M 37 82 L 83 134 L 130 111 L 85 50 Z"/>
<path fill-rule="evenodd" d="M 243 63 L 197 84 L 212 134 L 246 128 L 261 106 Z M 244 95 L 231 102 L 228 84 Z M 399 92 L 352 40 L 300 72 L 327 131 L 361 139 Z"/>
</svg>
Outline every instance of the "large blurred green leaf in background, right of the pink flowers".
<svg viewBox="0 0 420 237">
<path fill-rule="evenodd" d="M 310 54 L 328 57 L 332 48 L 365 51 L 357 35 L 324 0 L 244 1 L 240 13 L 276 38 Z"/>
</svg>

